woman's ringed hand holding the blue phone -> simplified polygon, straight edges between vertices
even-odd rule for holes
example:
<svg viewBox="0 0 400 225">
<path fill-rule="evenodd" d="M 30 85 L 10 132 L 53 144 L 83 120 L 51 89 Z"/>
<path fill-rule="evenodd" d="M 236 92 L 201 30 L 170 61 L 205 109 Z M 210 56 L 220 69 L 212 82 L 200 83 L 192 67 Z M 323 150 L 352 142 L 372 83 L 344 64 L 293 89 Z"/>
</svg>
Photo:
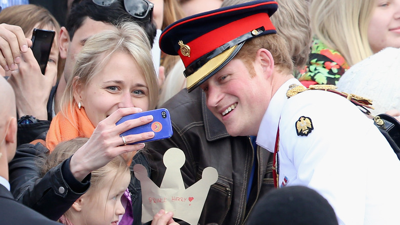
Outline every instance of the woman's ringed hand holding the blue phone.
<svg viewBox="0 0 400 225">
<path fill-rule="evenodd" d="M 123 116 L 141 112 L 141 108 L 119 108 L 109 117 L 98 123 L 88 142 L 76 151 L 70 161 L 70 170 L 78 181 L 82 181 L 89 173 L 105 166 L 114 157 L 138 151 L 145 144 L 129 144 L 154 137 L 154 132 L 124 136 L 127 145 L 119 134 L 128 129 L 153 121 L 153 116 L 144 116 L 115 125 Z"/>
</svg>

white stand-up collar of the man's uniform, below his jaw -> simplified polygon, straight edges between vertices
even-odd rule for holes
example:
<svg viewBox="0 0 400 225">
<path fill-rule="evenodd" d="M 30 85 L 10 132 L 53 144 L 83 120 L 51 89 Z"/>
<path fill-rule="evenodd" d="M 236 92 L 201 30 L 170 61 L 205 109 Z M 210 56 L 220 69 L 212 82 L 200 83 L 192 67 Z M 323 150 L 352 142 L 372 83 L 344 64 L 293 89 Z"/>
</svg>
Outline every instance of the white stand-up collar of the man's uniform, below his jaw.
<svg viewBox="0 0 400 225">
<path fill-rule="evenodd" d="M 286 92 L 291 84 L 301 85 L 297 79 L 292 78 L 279 87 L 269 102 L 267 111 L 265 112 L 263 120 L 258 128 L 256 143 L 270 152 L 274 152 L 275 149 L 279 119 L 281 118 L 282 108 L 288 100 Z"/>
</svg>

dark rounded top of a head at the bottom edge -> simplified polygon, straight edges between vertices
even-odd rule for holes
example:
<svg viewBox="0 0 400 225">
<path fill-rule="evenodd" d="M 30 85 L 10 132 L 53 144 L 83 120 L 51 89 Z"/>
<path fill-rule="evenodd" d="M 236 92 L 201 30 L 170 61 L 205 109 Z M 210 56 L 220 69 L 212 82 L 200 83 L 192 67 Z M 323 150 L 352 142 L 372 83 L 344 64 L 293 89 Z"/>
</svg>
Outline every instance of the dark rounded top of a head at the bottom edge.
<svg viewBox="0 0 400 225">
<path fill-rule="evenodd" d="M 285 186 L 259 198 L 247 225 L 337 225 L 335 211 L 306 186 Z"/>
</svg>

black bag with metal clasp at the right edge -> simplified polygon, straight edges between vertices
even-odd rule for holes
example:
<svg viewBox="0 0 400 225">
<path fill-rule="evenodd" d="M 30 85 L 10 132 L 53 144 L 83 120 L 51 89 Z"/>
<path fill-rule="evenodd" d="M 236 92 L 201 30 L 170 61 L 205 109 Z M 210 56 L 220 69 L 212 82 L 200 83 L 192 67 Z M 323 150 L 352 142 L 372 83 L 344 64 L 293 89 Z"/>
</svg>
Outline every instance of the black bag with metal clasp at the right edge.
<svg viewBox="0 0 400 225">
<path fill-rule="evenodd" d="M 374 124 L 388 140 L 397 158 L 400 159 L 400 122 L 390 115 L 379 114 L 374 118 Z"/>
</svg>

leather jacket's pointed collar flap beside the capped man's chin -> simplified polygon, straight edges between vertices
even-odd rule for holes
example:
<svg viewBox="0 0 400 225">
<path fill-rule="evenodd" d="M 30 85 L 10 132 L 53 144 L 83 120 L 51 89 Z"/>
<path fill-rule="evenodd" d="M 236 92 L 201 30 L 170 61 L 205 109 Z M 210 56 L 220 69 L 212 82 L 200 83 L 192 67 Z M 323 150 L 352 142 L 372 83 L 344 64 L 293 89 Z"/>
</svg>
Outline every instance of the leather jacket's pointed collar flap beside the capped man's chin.
<svg viewBox="0 0 400 225">
<path fill-rule="evenodd" d="M 204 130 L 206 132 L 207 141 L 215 141 L 230 136 L 225 128 L 225 125 L 219 121 L 207 108 L 206 94 L 204 91 L 202 91 L 202 114 L 204 118 Z"/>
</svg>

